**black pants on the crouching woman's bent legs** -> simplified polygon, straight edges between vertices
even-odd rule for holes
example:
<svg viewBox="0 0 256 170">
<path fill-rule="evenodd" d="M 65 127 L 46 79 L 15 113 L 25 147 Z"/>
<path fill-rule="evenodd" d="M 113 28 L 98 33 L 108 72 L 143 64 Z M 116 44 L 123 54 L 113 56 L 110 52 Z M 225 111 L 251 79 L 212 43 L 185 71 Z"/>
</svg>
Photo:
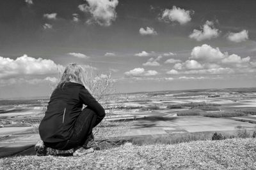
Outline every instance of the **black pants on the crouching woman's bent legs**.
<svg viewBox="0 0 256 170">
<path fill-rule="evenodd" d="M 77 146 L 83 146 L 88 136 L 92 134 L 93 127 L 99 124 L 96 120 L 96 113 L 93 110 L 90 110 L 90 108 L 84 108 L 79 117 L 77 117 L 76 124 L 74 125 L 74 133 L 69 140 L 44 144 L 45 146 L 56 150 L 70 150 Z"/>
</svg>

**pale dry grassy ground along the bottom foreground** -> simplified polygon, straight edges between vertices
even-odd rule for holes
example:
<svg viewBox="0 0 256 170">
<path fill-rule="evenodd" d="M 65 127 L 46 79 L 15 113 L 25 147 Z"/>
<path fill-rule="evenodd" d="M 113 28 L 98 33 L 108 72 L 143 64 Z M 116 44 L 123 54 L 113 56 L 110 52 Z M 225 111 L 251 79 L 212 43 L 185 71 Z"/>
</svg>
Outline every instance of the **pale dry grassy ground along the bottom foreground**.
<svg viewBox="0 0 256 170">
<path fill-rule="evenodd" d="M 7 157 L 3 169 L 255 169 L 256 139 L 123 145 L 84 157 Z"/>
</svg>

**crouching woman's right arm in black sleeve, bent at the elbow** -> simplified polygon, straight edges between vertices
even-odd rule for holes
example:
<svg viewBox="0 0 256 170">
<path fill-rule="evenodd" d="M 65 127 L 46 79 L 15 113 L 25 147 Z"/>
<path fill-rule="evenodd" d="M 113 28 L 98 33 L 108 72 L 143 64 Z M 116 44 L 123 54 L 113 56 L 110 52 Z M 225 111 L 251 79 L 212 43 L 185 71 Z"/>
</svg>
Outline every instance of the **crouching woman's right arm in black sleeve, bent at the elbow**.
<svg viewBox="0 0 256 170">
<path fill-rule="evenodd" d="M 93 125 L 93 127 L 95 127 L 97 124 L 101 122 L 101 120 L 106 115 L 104 108 L 95 100 L 95 98 L 90 94 L 90 92 L 88 92 L 88 90 L 86 90 L 84 87 L 82 87 L 79 92 L 79 98 L 81 99 L 83 104 L 86 104 L 88 108 L 95 111 L 97 115 L 96 123 L 95 125 Z"/>
</svg>

